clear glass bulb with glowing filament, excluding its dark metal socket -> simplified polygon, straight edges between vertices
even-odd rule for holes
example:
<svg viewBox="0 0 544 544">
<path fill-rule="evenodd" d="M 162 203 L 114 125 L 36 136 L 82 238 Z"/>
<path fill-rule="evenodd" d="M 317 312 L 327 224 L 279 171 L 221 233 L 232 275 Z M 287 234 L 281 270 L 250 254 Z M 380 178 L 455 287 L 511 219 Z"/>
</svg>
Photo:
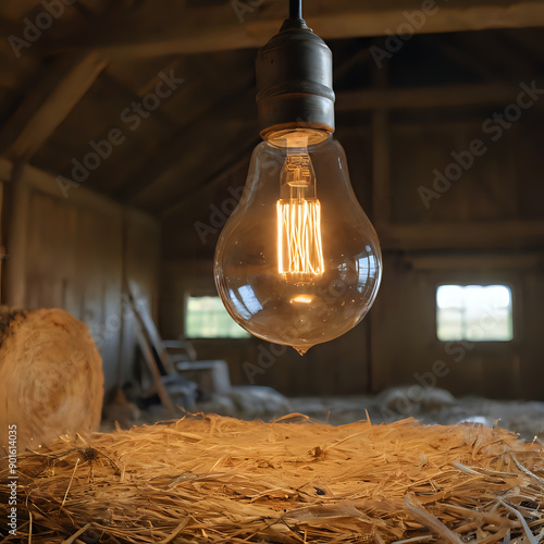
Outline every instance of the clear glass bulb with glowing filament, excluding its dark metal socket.
<svg viewBox="0 0 544 544">
<path fill-rule="evenodd" d="M 378 236 L 342 146 L 308 128 L 259 144 L 215 249 L 215 285 L 231 317 L 302 355 L 362 320 L 381 274 Z"/>
</svg>

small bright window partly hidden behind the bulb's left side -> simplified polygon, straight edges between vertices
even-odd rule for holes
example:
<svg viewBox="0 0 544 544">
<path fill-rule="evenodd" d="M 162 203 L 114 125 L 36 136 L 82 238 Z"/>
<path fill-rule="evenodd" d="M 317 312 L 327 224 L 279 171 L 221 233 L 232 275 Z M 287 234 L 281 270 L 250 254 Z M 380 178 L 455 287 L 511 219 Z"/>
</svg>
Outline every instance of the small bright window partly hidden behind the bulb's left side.
<svg viewBox="0 0 544 544">
<path fill-rule="evenodd" d="M 231 318 L 219 297 L 188 297 L 187 338 L 248 338 L 250 334 Z"/>
</svg>

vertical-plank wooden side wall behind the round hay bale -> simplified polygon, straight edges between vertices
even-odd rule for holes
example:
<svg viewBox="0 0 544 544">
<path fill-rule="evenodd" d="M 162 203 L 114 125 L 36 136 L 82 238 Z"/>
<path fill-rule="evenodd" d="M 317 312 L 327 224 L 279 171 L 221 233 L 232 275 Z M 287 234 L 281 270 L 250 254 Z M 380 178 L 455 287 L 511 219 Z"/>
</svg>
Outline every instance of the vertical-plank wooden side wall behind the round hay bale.
<svg viewBox="0 0 544 544">
<path fill-rule="evenodd" d="M 7 185 L 2 302 L 63 308 L 84 321 L 102 357 L 109 393 L 131 378 L 136 353 L 123 279 L 157 311 L 159 225 L 85 187 L 63 191 L 54 176 L 30 166 Z"/>
</svg>

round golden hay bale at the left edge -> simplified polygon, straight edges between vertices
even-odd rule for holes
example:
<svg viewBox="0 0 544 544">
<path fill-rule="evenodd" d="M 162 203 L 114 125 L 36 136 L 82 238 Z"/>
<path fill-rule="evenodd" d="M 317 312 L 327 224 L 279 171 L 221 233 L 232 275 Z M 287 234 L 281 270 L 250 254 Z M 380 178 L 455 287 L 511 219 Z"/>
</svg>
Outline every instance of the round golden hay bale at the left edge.
<svg viewBox="0 0 544 544">
<path fill-rule="evenodd" d="M 0 316 L 0 448 L 37 447 L 100 423 L 102 360 L 87 325 L 60 309 Z"/>
</svg>

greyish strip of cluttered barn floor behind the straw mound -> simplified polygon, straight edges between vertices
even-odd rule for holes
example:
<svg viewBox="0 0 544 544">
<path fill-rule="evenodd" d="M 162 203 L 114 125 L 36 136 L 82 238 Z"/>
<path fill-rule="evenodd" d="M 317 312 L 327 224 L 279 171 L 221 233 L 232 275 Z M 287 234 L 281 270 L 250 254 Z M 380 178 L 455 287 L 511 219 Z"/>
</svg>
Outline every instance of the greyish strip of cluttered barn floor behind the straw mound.
<svg viewBox="0 0 544 544">
<path fill-rule="evenodd" d="M 188 411 L 218 413 L 243 420 L 272 421 L 287 413 L 298 412 L 314 421 L 333 425 L 370 419 L 372 423 L 391 423 L 415 418 L 425 424 L 455 424 L 469 422 L 506 429 L 522 440 L 535 437 L 544 442 L 544 401 L 492 400 L 478 396 L 455 398 L 444 390 L 426 390 L 423 395 L 408 387 L 393 387 L 378 396 L 313 396 L 286 398 L 269 387 L 234 387 L 231 394 L 214 395 L 197 403 Z M 135 407 L 134 407 L 135 408 Z M 153 423 L 171 419 L 160 405 L 147 409 L 111 410 L 101 431 L 133 424 Z"/>
</svg>

